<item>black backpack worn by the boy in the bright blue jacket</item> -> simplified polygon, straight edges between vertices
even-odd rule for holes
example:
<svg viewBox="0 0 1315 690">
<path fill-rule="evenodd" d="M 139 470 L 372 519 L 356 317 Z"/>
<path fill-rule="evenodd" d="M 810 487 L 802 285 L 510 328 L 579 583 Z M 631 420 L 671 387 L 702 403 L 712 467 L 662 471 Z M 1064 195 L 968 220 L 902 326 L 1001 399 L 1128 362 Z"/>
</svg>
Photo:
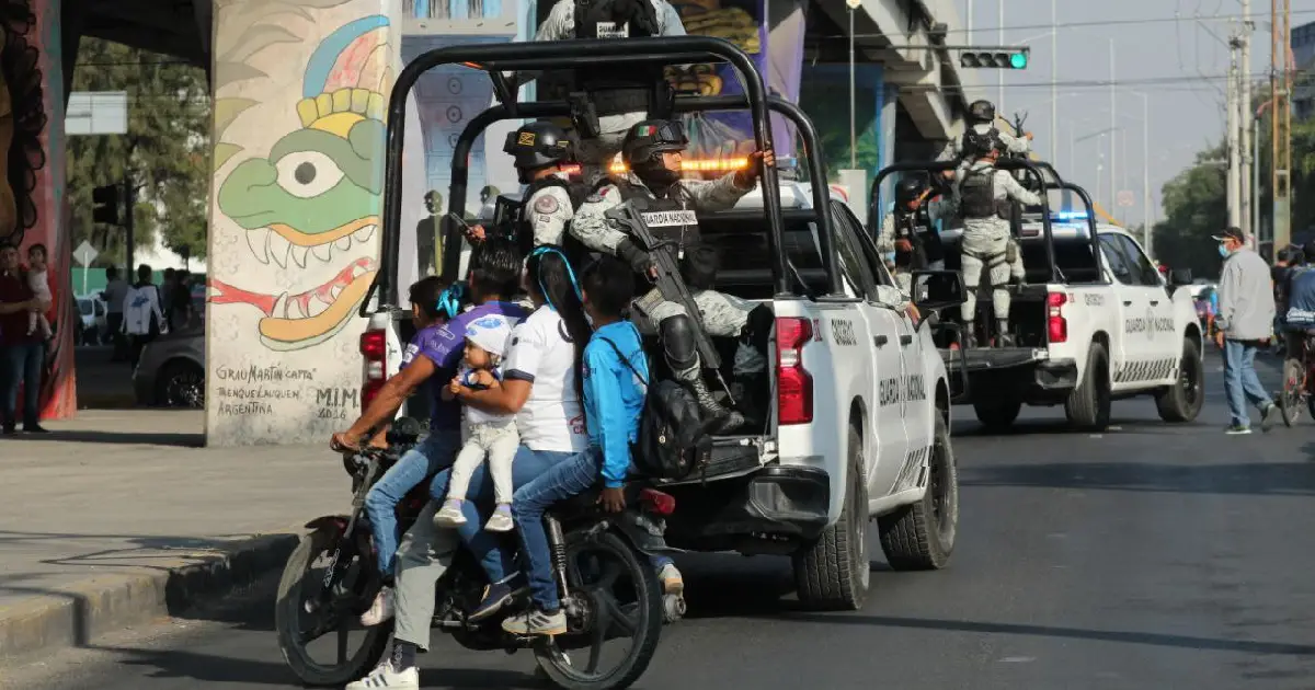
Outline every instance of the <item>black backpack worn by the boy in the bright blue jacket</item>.
<svg viewBox="0 0 1315 690">
<path fill-rule="evenodd" d="M 675 381 L 650 385 L 617 343 L 602 339 L 648 388 L 639 413 L 639 438 L 630 447 L 630 457 L 639 472 L 658 480 L 682 480 L 705 468 L 713 455 L 713 439 L 704 430 L 694 396 Z"/>
</svg>

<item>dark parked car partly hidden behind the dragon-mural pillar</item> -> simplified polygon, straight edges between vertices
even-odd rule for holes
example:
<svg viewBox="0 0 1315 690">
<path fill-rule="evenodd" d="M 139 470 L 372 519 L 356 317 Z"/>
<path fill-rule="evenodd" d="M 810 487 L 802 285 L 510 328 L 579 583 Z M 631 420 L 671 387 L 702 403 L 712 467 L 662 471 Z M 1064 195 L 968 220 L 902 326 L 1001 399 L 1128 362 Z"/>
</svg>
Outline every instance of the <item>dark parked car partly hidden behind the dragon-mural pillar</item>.
<svg viewBox="0 0 1315 690">
<path fill-rule="evenodd" d="M 205 329 L 183 329 L 147 343 L 133 389 L 139 405 L 204 409 Z"/>
</svg>

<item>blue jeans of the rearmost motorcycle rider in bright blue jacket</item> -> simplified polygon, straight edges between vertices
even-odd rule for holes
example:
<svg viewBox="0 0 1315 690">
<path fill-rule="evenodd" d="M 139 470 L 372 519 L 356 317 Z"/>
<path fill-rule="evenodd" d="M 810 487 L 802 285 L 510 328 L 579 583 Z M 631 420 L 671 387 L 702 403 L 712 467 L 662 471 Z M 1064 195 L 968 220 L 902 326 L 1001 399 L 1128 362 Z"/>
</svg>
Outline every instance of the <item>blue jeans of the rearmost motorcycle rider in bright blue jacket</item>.
<svg viewBox="0 0 1315 690">
<path fill-rule="evenodd" d="M 589 448 L 517 489 L 512 497 L 512 517 L 515 518 L 521 547 L 530 566 L 530 594 L 546 611 L 560 609 L 562 602 L 558 584 L 552 578 L 552 555 L 543 528 L 543 514 L 558 501 L 579 495 L 593 486 L 601 469 L 602 453 L 597 448 Z"/>
</svg>

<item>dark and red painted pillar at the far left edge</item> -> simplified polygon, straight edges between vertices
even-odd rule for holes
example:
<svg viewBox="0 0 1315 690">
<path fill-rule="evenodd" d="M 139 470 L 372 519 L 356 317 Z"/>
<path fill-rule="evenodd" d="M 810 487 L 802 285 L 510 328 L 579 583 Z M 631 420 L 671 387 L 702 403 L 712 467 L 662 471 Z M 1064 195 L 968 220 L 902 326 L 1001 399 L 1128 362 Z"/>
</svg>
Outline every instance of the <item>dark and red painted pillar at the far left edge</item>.
<svg viewBox="0 0 1315 690">
<path fill-rule="evenodd" d="M 51 304 L 46 311 L 55 338 L 46 348 L 41 417 L 72 417 L 74 310 L 68 272 L 72 262 L 63 222 L 64 96 L 60 0 L 0 0 L 0 239 L 18 244 L 25 269 L 33 247 L 43 247 Z M 22 398 L 20 397 L 20 401 Z"/>
</svg>

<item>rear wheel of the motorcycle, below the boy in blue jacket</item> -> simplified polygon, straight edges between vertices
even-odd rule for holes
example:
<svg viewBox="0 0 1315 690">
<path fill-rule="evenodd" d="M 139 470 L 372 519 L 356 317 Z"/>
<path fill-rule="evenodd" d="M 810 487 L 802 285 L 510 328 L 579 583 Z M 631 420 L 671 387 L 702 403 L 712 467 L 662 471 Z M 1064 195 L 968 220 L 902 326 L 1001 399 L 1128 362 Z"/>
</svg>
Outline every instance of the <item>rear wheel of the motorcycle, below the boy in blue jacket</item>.
<svg viewBox="0 0 1315 690">
<path fill-rule="evenodd" d="M 534 647 L 539 669 L 565 690 L 630 687 L 648 669 L 663 626 L 661 584 L 648 559 L 614 532 L 567 535 L 568 633 Z M 609 643 L 627 640 L 619 653 Z M 615 649 L 610 649 L 615 652 Z M 605 662 L 609 657 L 613 661 Z"/>
</svg>

